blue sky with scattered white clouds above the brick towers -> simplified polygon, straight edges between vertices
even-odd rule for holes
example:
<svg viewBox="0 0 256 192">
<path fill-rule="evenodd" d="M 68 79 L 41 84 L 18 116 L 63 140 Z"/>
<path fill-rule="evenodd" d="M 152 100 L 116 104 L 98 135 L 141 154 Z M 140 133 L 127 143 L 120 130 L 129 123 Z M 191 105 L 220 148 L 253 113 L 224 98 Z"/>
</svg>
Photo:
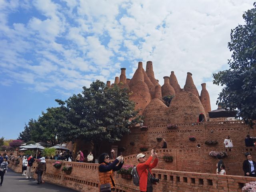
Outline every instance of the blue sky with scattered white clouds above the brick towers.
<svg viewBox="0 0 256 192">
<path fill-rule="evenodd" d="M 160 84 L 186 73 L 212 110 L 221 87 L 212 73 L 228 68 L 230 30 L 244 24 L 251 0 L 0 0 L 0 130 L 15 139 L 31 118 L 96 79 L 131 78 L 153 62 Z M 4 130 L 4 131 L 2 131 Z"/>
</svg>

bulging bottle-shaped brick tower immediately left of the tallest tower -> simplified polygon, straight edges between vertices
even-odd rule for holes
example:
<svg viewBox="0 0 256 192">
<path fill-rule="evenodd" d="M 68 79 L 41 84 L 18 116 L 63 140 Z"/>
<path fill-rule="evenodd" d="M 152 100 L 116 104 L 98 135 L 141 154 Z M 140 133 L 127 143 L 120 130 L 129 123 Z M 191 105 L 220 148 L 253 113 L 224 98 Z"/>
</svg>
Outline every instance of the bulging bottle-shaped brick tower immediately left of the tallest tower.
<svg viewBox="0 0 256 192">
<path fill-rule="evenodd" d="M 138 63 L 138 69 L 135 71 L 129 83 L 130 99 L 136 104 L 135 109 L 140 109 L 140 114 L 142 114 L 144 108 L 150 103 L 151 95 L 147 84 L 144 82 L 144 74 L 142 68 L 142 62 Z"/>
</svg>

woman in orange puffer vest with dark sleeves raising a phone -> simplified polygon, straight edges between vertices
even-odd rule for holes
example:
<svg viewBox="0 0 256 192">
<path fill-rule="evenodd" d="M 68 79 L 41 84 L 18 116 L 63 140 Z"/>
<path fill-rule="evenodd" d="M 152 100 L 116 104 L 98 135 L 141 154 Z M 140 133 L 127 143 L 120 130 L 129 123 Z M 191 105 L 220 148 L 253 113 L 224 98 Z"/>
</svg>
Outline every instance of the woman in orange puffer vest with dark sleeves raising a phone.
<svg viewBox="0 0 256 192">
<path fill-rule="evenodd" d="M 110 163 L 110 159 L 107 153 L 103 153 L 98 158 L 99 162 L 99 180 L 100 185 L 108 184 L 111 191 L 115 191 L 116 184 L 114 180 L 114 171 L 118 171 L 124 164 L 123 156 L 118 156 L 113 163 Z M 119 163 L 120 162 L 120 163 Z M 119 163 L 119 164 L 118 164 Z M 118 164 L 118 166 L 116 166 Z"/>
</svg>

